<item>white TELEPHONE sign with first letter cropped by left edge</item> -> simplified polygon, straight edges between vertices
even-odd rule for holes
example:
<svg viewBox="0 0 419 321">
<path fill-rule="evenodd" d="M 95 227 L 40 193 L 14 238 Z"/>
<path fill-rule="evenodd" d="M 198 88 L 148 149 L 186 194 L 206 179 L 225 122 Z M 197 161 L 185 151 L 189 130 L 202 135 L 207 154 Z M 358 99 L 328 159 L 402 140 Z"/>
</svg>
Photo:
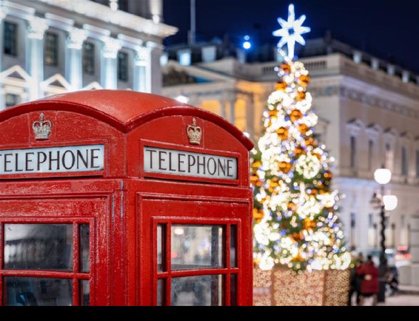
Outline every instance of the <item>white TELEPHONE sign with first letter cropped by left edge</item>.
<svg viewBox="0 0 419 321">
<path fill-rule="evenodd" d="M 103 171 L 105 146 L 0 150 L 0 175 Z"/>
</svg>

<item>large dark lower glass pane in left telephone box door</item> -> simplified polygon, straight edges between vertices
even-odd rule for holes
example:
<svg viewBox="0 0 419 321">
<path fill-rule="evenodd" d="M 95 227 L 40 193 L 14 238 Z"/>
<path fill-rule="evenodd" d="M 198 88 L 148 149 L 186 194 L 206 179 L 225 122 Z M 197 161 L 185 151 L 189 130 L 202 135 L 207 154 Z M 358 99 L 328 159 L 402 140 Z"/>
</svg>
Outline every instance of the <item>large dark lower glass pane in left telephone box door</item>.
<svg viewBox="0 0 419 321">
<path fill-rule="evenodd" d="M 5 277 L 5 305 L 73 305 L 73 281 L 41 277 Z"/>
</svg>

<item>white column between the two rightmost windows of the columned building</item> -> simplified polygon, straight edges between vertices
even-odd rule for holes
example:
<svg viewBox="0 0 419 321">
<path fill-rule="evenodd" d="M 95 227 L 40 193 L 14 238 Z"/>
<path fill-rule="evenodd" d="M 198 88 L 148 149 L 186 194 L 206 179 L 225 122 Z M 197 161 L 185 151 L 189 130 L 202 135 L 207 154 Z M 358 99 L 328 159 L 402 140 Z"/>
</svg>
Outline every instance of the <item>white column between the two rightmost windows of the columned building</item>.
<svg viewBox="0 0 419 321">
<path fill-rule="evenodd" d="M 118 51 L 122 42 L 115 38 L 106 38 L 103 42 L 100 68 L 100 84 L 105 89 L 116 89 L 118 86 Z"/>
</svg>

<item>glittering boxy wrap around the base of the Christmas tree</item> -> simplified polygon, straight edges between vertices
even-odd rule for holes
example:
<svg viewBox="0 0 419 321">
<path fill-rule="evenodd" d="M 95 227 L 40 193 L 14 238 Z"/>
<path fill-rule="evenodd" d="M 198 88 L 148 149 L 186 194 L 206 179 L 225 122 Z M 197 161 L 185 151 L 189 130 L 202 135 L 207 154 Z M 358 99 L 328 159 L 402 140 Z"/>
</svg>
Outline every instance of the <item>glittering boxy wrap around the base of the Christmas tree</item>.
<svg viewBox="0 0 419 321">
<path fill-rule="evenodd" d="M 253 305 L 347 305 L 349 270 L 253 270 Z"/>
</svg>

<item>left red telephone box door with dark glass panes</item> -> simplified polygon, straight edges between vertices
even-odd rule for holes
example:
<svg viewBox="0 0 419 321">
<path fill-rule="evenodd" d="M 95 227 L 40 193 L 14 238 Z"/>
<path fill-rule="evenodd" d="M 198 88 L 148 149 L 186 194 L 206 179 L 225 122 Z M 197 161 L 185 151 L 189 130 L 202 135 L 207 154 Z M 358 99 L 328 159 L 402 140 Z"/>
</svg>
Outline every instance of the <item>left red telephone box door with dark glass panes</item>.
<svg viewBox="0 0 419 321">
<path fill-rule="evenodd" d="M 0 305 L 109 304 L 107 248 L 97 246 L 106 198 L 20 195 L 0 208 Z"/>
</svg>

